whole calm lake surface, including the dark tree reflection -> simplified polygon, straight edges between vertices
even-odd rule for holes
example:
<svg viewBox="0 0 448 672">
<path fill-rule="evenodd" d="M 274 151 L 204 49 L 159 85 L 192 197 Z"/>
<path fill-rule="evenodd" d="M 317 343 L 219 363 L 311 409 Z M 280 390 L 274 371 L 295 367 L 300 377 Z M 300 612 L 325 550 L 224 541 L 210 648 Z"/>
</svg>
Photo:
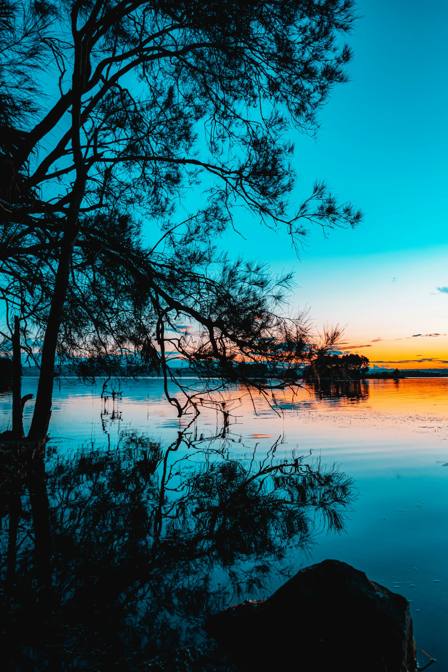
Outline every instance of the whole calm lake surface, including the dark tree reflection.
<svg viewBox="0 0 448 672">
<path fill-rule="evenodd" d="M 205 407 L 179 421 L 156 379 L 101 391 L 61 382 L 44 462 L 3 460 L 7 669 L 154 669 L 324 558 L 405 595 L 448 669 L 448 379 L 308 386 L 278 415 L 232 390 L 224 426 Z M 4 392 L 2 430 L 10 410 Z"/>
</svg>

